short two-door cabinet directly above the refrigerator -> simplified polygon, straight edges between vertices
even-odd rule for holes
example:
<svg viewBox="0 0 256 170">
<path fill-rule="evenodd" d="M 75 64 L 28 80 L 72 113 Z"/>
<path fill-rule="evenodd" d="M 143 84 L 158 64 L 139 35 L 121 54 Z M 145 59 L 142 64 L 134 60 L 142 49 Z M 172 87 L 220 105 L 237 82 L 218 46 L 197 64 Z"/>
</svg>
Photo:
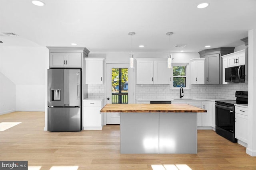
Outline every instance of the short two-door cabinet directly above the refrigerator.
<svg viewBox="0 0 256 170">
<path fill-rule="evenodd" d="M 82 53 L 50 53 L 50 68 L 82 68 Z"/>
</svg>

